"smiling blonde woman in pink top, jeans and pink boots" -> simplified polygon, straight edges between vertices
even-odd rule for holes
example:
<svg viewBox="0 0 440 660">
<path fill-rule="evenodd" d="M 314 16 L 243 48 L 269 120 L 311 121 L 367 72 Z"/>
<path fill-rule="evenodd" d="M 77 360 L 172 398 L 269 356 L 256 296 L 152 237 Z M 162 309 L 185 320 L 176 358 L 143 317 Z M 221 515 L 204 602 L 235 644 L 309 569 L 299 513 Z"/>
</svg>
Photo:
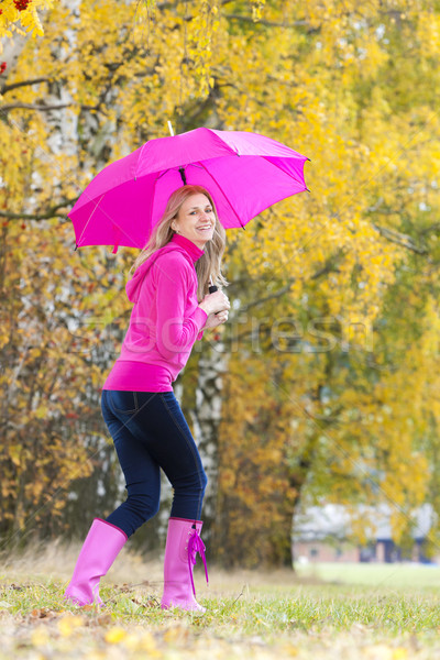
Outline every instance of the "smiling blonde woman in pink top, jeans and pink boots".
<svg viewBox="0 0 440 660">
<path fill-rule="evenodd" d="M 208 294 L 221 274 L 226 232 L 213 200 L 199 186 L 184 186 L 168 199 L 162 220 L 136 258 L 127 285 L 134 304 L 130 326 L 102 388 L 102 416 L 124 473 L 128 498 L 106 520 L 95 518 L 65 597 L 101 604 L 99 580 L 119 551 L 158 510 L 162 468 L 173 488 L 165 548 L 162 607 L 201 610 L 193 564 L 200 539 L 207 477 L 172 383 L 196 339 L 228 320 L 227 296 Z"/>
</svg>

